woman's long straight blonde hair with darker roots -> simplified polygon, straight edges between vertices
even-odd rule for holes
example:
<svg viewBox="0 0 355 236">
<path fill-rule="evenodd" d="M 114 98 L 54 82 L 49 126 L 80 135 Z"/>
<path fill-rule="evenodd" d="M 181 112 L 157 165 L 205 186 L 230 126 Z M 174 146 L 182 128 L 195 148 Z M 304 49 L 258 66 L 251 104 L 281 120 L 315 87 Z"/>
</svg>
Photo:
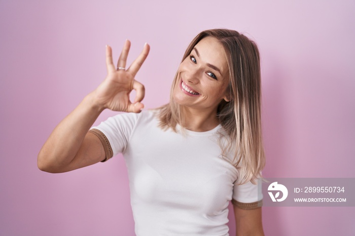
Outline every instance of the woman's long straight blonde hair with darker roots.
<svg viewBox="0 0 355 236">
<path fill-rule="evenodd" d="M 229 102 L 222 100 L 217 116 L 222 125 L 220 132 L 228 134 L 227 144 L 222 145 L 222 155 L 232 150 L 232 164 L 239 170 L 239 184 L 255 183 L 265 166 L 265 154 L 261 131 L 261 78 L 260 57 L 257 45 L 243 34 L 229 29 L 211 29 L 199 33 L 187 48 L 183 60 L 204 37 L 216 38 L 224 47 L 229 68 Z M 159 109 L 160 127 L 176 132 L 176 124 L 185 124 L 182 107 L 172 99 L 176 85 L 175 74 L 170 92 L 170 102 Z M 240 181 L 241 180 L 241 181 Z"/>
</svg>

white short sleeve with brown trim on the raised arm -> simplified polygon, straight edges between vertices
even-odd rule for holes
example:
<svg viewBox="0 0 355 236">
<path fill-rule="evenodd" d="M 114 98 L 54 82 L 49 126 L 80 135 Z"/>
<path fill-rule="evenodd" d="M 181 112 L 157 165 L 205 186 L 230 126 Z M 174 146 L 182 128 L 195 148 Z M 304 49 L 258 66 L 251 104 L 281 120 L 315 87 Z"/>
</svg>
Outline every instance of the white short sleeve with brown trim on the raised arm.
<svg viewBox="0 0 355 236">
<path fill-rule="evenodd" d="M 125 151 L 138 116 L 137 113 L 118 114 L 90 129 L 89 132 L 95 134 L 101 140 L 106 153 L 105 161 Z M 111 156 L 108 156 L 110 155 L 110 149 Z"/>
</svg>

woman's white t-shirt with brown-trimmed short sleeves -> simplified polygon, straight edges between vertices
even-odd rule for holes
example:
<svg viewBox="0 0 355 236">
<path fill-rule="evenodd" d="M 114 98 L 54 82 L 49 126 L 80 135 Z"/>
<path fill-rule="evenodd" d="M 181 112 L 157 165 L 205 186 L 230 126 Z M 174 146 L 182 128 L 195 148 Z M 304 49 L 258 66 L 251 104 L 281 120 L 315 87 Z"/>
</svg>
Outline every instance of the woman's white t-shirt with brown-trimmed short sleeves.
<svg viewBox="0 0 355 236">
<path fill-rule="evenodd" d="M 221 126 L 183 134 L 180 126 L 175 133 L 163 131 L 158 123 L 154 111 L 142 111 L 119 114 L 93 127 L 105 136 L 101 141 L 107 138 L 113 155 L 123 153 L 135 233 L 229 235 L 229 201 L 257 206 L 262 193 L 251 182 L 235 184 L 238 171 L 222 158 L 218 144 Z"/>
</svg>

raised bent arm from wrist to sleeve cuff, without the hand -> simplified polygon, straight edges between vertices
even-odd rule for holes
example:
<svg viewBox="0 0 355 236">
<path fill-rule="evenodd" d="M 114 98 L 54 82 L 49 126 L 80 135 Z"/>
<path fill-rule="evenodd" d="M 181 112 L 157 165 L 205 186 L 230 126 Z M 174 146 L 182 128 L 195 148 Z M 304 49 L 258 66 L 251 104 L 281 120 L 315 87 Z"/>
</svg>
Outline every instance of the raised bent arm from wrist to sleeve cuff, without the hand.
<svg viewBox="0 0 355 236">
<path fill-rule="evenodd" d="M 60 173 L 95 164 L 105 158 L 100 140 L 88 130 L 101 113 L 92 102 L 92 94 L 84 98 L 53 130 L 40 153 L 38 167 Z"/>
</svg>

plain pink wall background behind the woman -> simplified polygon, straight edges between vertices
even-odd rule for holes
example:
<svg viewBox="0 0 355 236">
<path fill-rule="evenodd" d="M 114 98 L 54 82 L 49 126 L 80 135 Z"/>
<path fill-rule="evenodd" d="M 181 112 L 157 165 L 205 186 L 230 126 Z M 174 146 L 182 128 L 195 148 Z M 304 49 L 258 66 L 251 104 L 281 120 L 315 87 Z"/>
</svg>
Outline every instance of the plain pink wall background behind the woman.
<svg viewBox="0 0 355 236">
<path fill-rule="evenodd" d="M 0 235 L 134 235 L 122 156 L 37 169 L 53 130 L 126 38 L 146 108 L 168 101 L 192 38 L 247 32 L 261 52 L 266 177 L 355 177 L 355 1 L 0 1 Z M 113 115 L 105 111 L 102 121 Z M 266 235 L 355 235 L 354 207 L 263 208 Z M 234 219 L 230 218 L 234 235 Z"/>
</svg>

